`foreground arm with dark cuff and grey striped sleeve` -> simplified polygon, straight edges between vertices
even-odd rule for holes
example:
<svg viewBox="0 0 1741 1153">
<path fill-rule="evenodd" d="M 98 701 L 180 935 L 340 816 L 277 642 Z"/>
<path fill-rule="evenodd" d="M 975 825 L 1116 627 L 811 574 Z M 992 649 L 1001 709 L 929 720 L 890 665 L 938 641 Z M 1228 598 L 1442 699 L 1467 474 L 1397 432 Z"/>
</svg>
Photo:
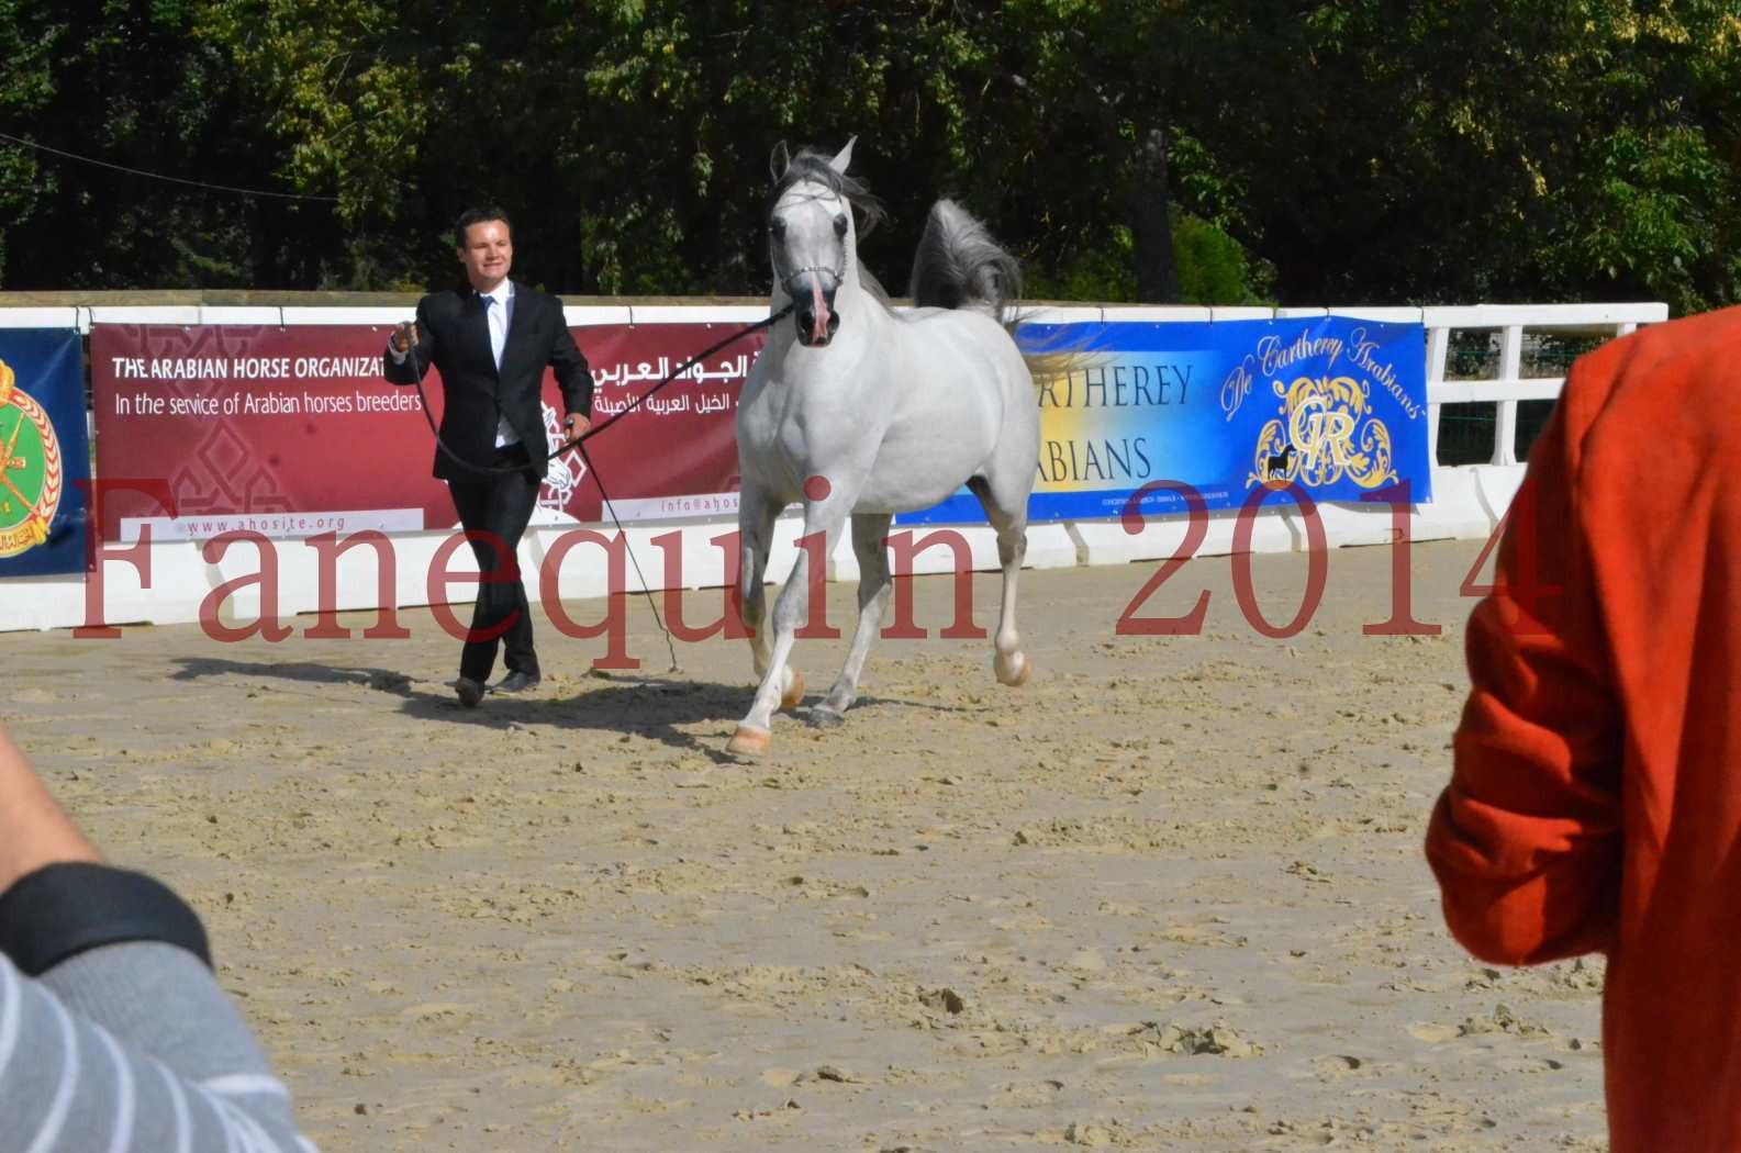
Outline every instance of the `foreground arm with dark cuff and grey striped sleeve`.
<svg viewBox="0 0 1741 1153">
<path fill-rule="evenodd" d="M 0 730 L 0 1150 L 294 1153 L 193 909 L 96 848 Z"/>
</svg>

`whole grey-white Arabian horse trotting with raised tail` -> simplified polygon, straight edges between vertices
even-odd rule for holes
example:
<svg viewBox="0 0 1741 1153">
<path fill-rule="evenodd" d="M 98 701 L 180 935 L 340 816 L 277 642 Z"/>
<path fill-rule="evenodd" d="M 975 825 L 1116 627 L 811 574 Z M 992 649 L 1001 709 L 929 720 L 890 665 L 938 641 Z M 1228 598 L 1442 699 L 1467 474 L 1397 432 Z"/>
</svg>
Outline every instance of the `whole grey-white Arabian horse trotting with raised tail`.
<svg viewBox="0 0 1741 1153">
<path fill-rule="evenodd" d="M 891 589 L 893 514 L 928 509 L 963 484 L 998 531 L 1003 608 L 992 669 L 1012 686 L 1032 669 L 1015 632 L 1015 578 L 1027 550 L 1039 402 L 1005 327 L 1020 272 L 977 219 L 938 200 L 912 265 L 914 308 L 893 312 L 858 266 L 855 209 L 870 221 L 876 204 L 846 174 L 851 152 L 851 141 L 832 158 L 799 152 L 783 164 L 768 211 L 773 308 L 794 305 L 794 324 L 770 331 L 736 413 L 738 594 L 761 684 L 728 745 L 733 754 L 764 752 L 775 711 L 804 695 L 787 658 L 810 613 L 810 550 L 799 550 L 773 629 L 763 629 L 775 517 L 794 502 L 804 505 L 804 535 L 827 542 L 823 557 L 851 517 L 860 573 L 846 665 L 810 711 L 813 725 L 839 725 L 858 691 Z"/>
</svg>

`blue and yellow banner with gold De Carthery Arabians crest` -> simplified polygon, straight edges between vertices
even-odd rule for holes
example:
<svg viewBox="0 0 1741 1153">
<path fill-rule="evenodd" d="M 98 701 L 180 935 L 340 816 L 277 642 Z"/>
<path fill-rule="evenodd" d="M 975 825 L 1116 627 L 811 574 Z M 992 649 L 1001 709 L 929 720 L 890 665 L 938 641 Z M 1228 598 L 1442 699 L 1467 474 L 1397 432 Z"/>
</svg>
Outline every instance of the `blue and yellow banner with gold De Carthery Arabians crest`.
<svg viewBox="0 0 1741 1153">
<path fill-rule="evenodd" d="M 1349 317 L 1025 324 L 1039 397 L 1031 521 L 1116 517 L 1149 482 L 1238 509 L 1259 486 L 1358 502 L 1402 481 L 1431 500 L 1426 331 Z M 1274 503 L 1274 502 L 1273 502 Z M 1144 512 L 1184 512 L 1177 488 Z M 982 523 L 963 488 L 904 524 Z"/>
</svg>

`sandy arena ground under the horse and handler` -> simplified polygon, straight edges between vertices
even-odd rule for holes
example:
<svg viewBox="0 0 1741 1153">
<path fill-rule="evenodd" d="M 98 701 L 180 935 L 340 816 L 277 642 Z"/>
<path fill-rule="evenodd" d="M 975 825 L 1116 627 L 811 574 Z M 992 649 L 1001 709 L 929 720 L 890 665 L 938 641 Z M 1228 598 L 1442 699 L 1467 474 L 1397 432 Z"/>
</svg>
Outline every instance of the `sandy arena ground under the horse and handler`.
<svg viewBox="0 0 1741 1153">
<path fill-rule="evenodd" d="M 1414 552 L 1436 637 L 1361 636 L 1388 549 L 1332 552 L 1285 641 L 1229 557 L 1146 606 L 1208 589 L 1196 637 L 1114 636 L 1153 564 L 1029 571 L 1015 691 L 923 578 L 931 637 L 743 765 L 747 646 L 665 672 L 644 603 L 642 672 L 540 613 L 543 688 L 475 712 L 425 611 L 404 641 L 7 634 L 0 716 L 205 916 L 326 1153 L 1602 1150 L 1600 961 L 1471 961 L 1421 855 L 1478 550 Z M 1306 559 L 1252 568 L 1292 617 Z M 843 653 L 799 643 L 811 702 Z"/>
</svg>

